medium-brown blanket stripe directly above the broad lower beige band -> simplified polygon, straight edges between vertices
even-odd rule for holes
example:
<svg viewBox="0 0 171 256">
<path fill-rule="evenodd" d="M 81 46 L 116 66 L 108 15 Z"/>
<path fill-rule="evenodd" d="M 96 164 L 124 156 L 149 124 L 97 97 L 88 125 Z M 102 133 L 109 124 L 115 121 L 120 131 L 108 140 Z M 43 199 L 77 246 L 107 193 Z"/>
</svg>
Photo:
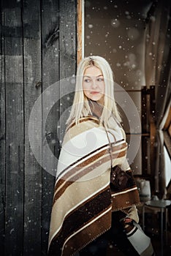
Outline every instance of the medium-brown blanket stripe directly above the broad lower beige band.
<svg viewBox="0 0 171 256">
<path fill-rule="evenodd" d="M 123 157 L 124 155 L 125 155 L 125 152 L 124 152 L 124 151 L 121 151 L 121 153 L 116 154 L 117 157 Z M 115 157 L 115 154 L 113 154 L 113 158 L 114 158 L 114 157 Z M 64 184 L 64 186 L 61 187 L 61 189 L 59 189 L 58 192 L 55 194 L 55 196 L 54 196 L 54 198 L 53 198 L 53 204 L 56 203 L 56 200 L 58 200 L 58 198 L 64 193 L 64 191 L 66 190 L 66 188 L 69 187 L 69 186 L 70 186 L 73 182 L 75 182 L 78 178 L 83 177 L 83 176 L 86 175 L 89 171 L 91 171 L 93 168 L 98 167 L 99 165 L 102 165 L 102 163 L 107 162 L 107 161 L 109 161 L 109 160 L 110 160 L 110 155 L 107 155 L 107 154 L 106 154 L 106 155 L 104 155 L 104 158 L 101 159 L 99 162 L 95 162 L 93 165 L 88 166 L 88 167 L 85 168 L 82 172 L 80 172 L 80 173 L 78 173 L 78 174 L 76 173 L 76 175 L 72 177 L 72 181 L 65 181 L 65 180 L 63 180 L 63 182 L 61 182 L 61 184 L 64 183 L 64 182 L 65 182 L 65 184 Z M 88 165 L 88 163 L 87 163 L 87 165 Z M 77 168 L 78 168 L 78 167 L 77 167 Z M 74 168 L 73 168 L 72 170 L 74 170 Z M 71 170 L 71 171 L 72 171 L 72 170 Z M 79 168 L 79 170 L 80 170 L 80 168 Z M 69 171 L 69 172 L 70 172 L 70 171 Z M 56 184 L 56 189 L 58 189 L 58 183 Z"/>
</svg>

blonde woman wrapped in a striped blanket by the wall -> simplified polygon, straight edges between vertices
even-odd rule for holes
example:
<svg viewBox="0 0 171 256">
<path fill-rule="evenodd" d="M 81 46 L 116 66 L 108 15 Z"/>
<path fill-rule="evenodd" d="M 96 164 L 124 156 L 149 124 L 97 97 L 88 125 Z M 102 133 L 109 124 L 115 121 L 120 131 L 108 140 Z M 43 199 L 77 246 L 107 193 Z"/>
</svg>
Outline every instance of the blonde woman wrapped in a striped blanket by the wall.
<svg viewBox="0 0 171 256">
<path fill-rule="evenodd" d="M 108 238 L 118 246 L 124 244 L 121 234 L 123 239 L 126 235 L 119 220 L 123 218 L 125 225 L 138 222 L 140 201 L 126 161 L 126 137 L 113 84 L 113 72 L 105 59 L 91 56 L 80 62 L 58 159 L 49 255 L 105 255 Z M 115 171 L 121 170 L 129 182 L 123 174 L 115 178 Z M 123 251 L 136 255 L 133 248 Z"/>
</svg>

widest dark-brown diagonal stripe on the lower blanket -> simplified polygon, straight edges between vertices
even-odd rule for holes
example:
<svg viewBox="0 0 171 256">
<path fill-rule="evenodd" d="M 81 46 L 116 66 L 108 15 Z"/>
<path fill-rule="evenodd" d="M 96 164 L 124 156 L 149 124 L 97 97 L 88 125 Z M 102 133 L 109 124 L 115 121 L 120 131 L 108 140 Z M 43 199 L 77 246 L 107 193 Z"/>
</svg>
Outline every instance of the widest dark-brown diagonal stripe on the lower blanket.
<svg viewBox="0 0 171 256">
<path fill-rule="evenodd" d="M 103 202 L 103 204 L 101 202 Z M 108 208 L 110 205 L 110 189 L 107 187 L 94 197 L 86 200 L 86 202 L 78 208 L 75 208 L 74 211 L 70 212 L 67 217 L 65 217 L 61 230 L 53 238 L 51 244 L 56 244 L 56 241 L 58 241 L 58 245 L 61 244 L 62 246 L 65 241 L 64 238 L 68 238 L 73 232 L 80 230 L 81 227 L 91 222 L 94 217 L 102 214 L 104 209 Z"/>
</svg>

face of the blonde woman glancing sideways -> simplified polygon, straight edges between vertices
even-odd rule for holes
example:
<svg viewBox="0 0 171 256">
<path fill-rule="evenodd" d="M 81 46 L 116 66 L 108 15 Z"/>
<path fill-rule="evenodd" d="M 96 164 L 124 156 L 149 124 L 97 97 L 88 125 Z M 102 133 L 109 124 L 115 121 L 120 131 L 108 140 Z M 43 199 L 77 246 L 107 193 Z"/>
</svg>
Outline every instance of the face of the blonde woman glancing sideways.
<svg viewBox="0 0 171 256">
<path fill-rule="evenodd" d="M 95 66 L 88 67 L 83 75 L 83 91 L 88 99 L 104 105 L 105 84 L 102 71 Z"/>
</svg>

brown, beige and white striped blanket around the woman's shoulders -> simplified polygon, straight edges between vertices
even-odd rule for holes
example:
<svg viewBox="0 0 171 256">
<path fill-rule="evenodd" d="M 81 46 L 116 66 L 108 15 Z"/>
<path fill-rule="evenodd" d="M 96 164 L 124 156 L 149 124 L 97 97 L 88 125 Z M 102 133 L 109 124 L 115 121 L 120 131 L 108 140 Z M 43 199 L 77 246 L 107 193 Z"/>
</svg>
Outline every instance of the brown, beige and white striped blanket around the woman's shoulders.
<svg viewBox="0 0 171 256">
<path fill-rule="evenodd" d="M 110 229 L 112 211 L 130 211 L 140 203 L 135 184 L 123 191 L 110 189 L 111 154 L 113 166 L 130 171 L 126 150 L 123 129 L 116 126 L 106 131 L 93 116 L 66 130 L 58 159 L 48 255 L 75 255 Z"/>
</svg>

